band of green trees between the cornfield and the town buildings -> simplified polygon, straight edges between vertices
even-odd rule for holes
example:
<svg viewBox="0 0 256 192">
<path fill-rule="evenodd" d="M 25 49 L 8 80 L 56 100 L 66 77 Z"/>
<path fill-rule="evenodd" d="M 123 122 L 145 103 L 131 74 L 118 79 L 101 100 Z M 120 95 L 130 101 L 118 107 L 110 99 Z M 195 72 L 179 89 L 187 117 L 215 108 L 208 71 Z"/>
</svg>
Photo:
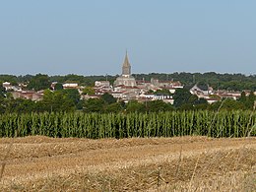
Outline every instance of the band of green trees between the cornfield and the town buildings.
<svg viewBox="0 0 256 192">
<path fill-rule="evenodd" d="M 158 112 L 171 110 L 233 110 L 253 109 L 256 97 L 251 93 L 245 96 L 242 93 L 238 100 L 223 99 L 213 104 L 207 100 L 191 95 L 186 89 L 178 89 L 173 95 L 174 103 L 165 103 L 162 100 L 139 102 L 130 100 L 128 103 L 119 101 L 109 94 L 99 98 L 80 99 L 77 90 L 45 90 L 43 99 L 34 102 L 30 99 L 14 99 L 10 93 L 0 87 L 0 113 L 28 113 L 28 112 L 58 112 L 58 111 L 85 111 L 85 112 Z"/>
</svg>

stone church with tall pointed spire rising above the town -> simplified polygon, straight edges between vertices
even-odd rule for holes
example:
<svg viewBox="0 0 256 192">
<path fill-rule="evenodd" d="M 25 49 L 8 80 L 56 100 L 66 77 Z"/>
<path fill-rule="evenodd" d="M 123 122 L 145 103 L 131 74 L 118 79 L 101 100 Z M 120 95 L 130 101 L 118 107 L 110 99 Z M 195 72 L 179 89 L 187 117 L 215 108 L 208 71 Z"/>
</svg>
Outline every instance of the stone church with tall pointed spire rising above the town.
<svg viewBox="0 0 256 192">
<path fill-rule="evenodd" d="M 125 86 L 125 87 L 135 87 L 136 80 L 131 75 L 131 64 L 128 59 L 128 54 L 126 51 L 123 66 L 122 66 L 122 75 L 116 78 L 114 81 L 114 87 Z"/>
</svg>

